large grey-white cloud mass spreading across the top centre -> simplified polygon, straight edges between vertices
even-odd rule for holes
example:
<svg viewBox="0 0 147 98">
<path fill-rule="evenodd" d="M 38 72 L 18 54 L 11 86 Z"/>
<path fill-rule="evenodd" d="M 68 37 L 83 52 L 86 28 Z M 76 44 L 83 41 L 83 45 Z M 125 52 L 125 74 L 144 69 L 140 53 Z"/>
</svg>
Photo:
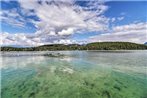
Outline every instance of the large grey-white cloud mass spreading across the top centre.
<svg viewBox="0 0 147 98">
<path fill-rule="evenodd" d="M 98 16 L 107 9 L 107 6 L 96 5 L 97 2 L 89 2 L 88 7 L 82 7 L 75 2 L 69 3 L 66 0 L 64 2 L 42 1 L 40 4 L 31 1 L 31 5 L 28 5 L 30 1 L 20 1 L 20 4 L 25 10 L 34 10 L 36 16 L 40 19 L 34 24 L 42 34 L 44 32 L 55 32 L 58 35 L 63 30 L 69 30 L 69 28 L 74 28 L 75 31 L 80 29 L 101 31 L 106 29 L 108 23 L 106 17 Z M 92 9 L 95 11 L 92 11 Z M 62 33 L 62 35 L 64 34 Z"/>
</svg>

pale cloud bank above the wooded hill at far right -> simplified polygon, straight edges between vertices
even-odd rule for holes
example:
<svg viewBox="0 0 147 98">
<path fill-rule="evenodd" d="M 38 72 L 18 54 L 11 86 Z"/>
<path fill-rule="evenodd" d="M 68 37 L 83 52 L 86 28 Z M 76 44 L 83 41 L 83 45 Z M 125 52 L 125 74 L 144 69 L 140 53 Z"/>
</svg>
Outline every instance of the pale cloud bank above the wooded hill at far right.
<svg viewBox="0 0 147 98">
<path fill-rule="evenodd" d="M 125 41 L 142 44 L 147 41 L 147 23 L 116 26 L 108 33 L 90 37 L 89 41 Z"/>
</svg>

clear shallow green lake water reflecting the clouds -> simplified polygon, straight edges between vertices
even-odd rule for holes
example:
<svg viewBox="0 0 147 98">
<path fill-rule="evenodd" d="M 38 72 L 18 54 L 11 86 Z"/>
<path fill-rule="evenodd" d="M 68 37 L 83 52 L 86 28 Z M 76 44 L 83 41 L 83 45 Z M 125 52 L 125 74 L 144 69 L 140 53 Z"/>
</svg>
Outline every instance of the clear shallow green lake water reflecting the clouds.
<svg viewBox="0 0 147 98">
<path fill-rule="evenodd" d="M 43 53 L 1 53 L 2 98 L 147 98 L 147 51 Z"/>
</svg>

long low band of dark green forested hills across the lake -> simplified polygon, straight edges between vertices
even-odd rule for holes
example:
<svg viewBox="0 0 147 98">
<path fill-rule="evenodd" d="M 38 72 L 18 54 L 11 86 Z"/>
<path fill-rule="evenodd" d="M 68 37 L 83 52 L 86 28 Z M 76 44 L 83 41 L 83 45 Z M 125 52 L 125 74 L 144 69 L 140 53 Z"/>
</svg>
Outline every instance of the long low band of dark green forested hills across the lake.
<svg viewBox="0 0 147 98">
<path fill-rule="evenodd" d="M 130 42 L 95 42 L 86 45 L 79 44 L 51 44 L 38 47 L 1 47 L 1 51 L 56 51 L 56 50 L 145 50 L 144 44 Z"/>
</svg>

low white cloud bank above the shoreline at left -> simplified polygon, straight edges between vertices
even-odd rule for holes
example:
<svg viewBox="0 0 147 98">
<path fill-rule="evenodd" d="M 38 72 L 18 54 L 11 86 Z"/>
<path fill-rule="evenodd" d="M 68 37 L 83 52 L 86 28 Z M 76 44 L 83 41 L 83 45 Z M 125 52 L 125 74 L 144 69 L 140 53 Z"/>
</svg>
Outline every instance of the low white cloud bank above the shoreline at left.
<svg viewBox="0 0 147 98">
<path fill-rule="evenodd" d="M 76 44 L 79 43 L 76 40 L 67 38 L 49 38 L 44 39 L 44 37 L 32 37 L 26 34 L 10 34 L 10 33 L 0 33 L 0 44 L 1 45 L 18 45 L 18 46 L 39 46 L 44 44 Z M 84 42 L 83 42 L 84 43 Z M 81 44 L 81 43 L 80 43 Z"/>
</svg>

